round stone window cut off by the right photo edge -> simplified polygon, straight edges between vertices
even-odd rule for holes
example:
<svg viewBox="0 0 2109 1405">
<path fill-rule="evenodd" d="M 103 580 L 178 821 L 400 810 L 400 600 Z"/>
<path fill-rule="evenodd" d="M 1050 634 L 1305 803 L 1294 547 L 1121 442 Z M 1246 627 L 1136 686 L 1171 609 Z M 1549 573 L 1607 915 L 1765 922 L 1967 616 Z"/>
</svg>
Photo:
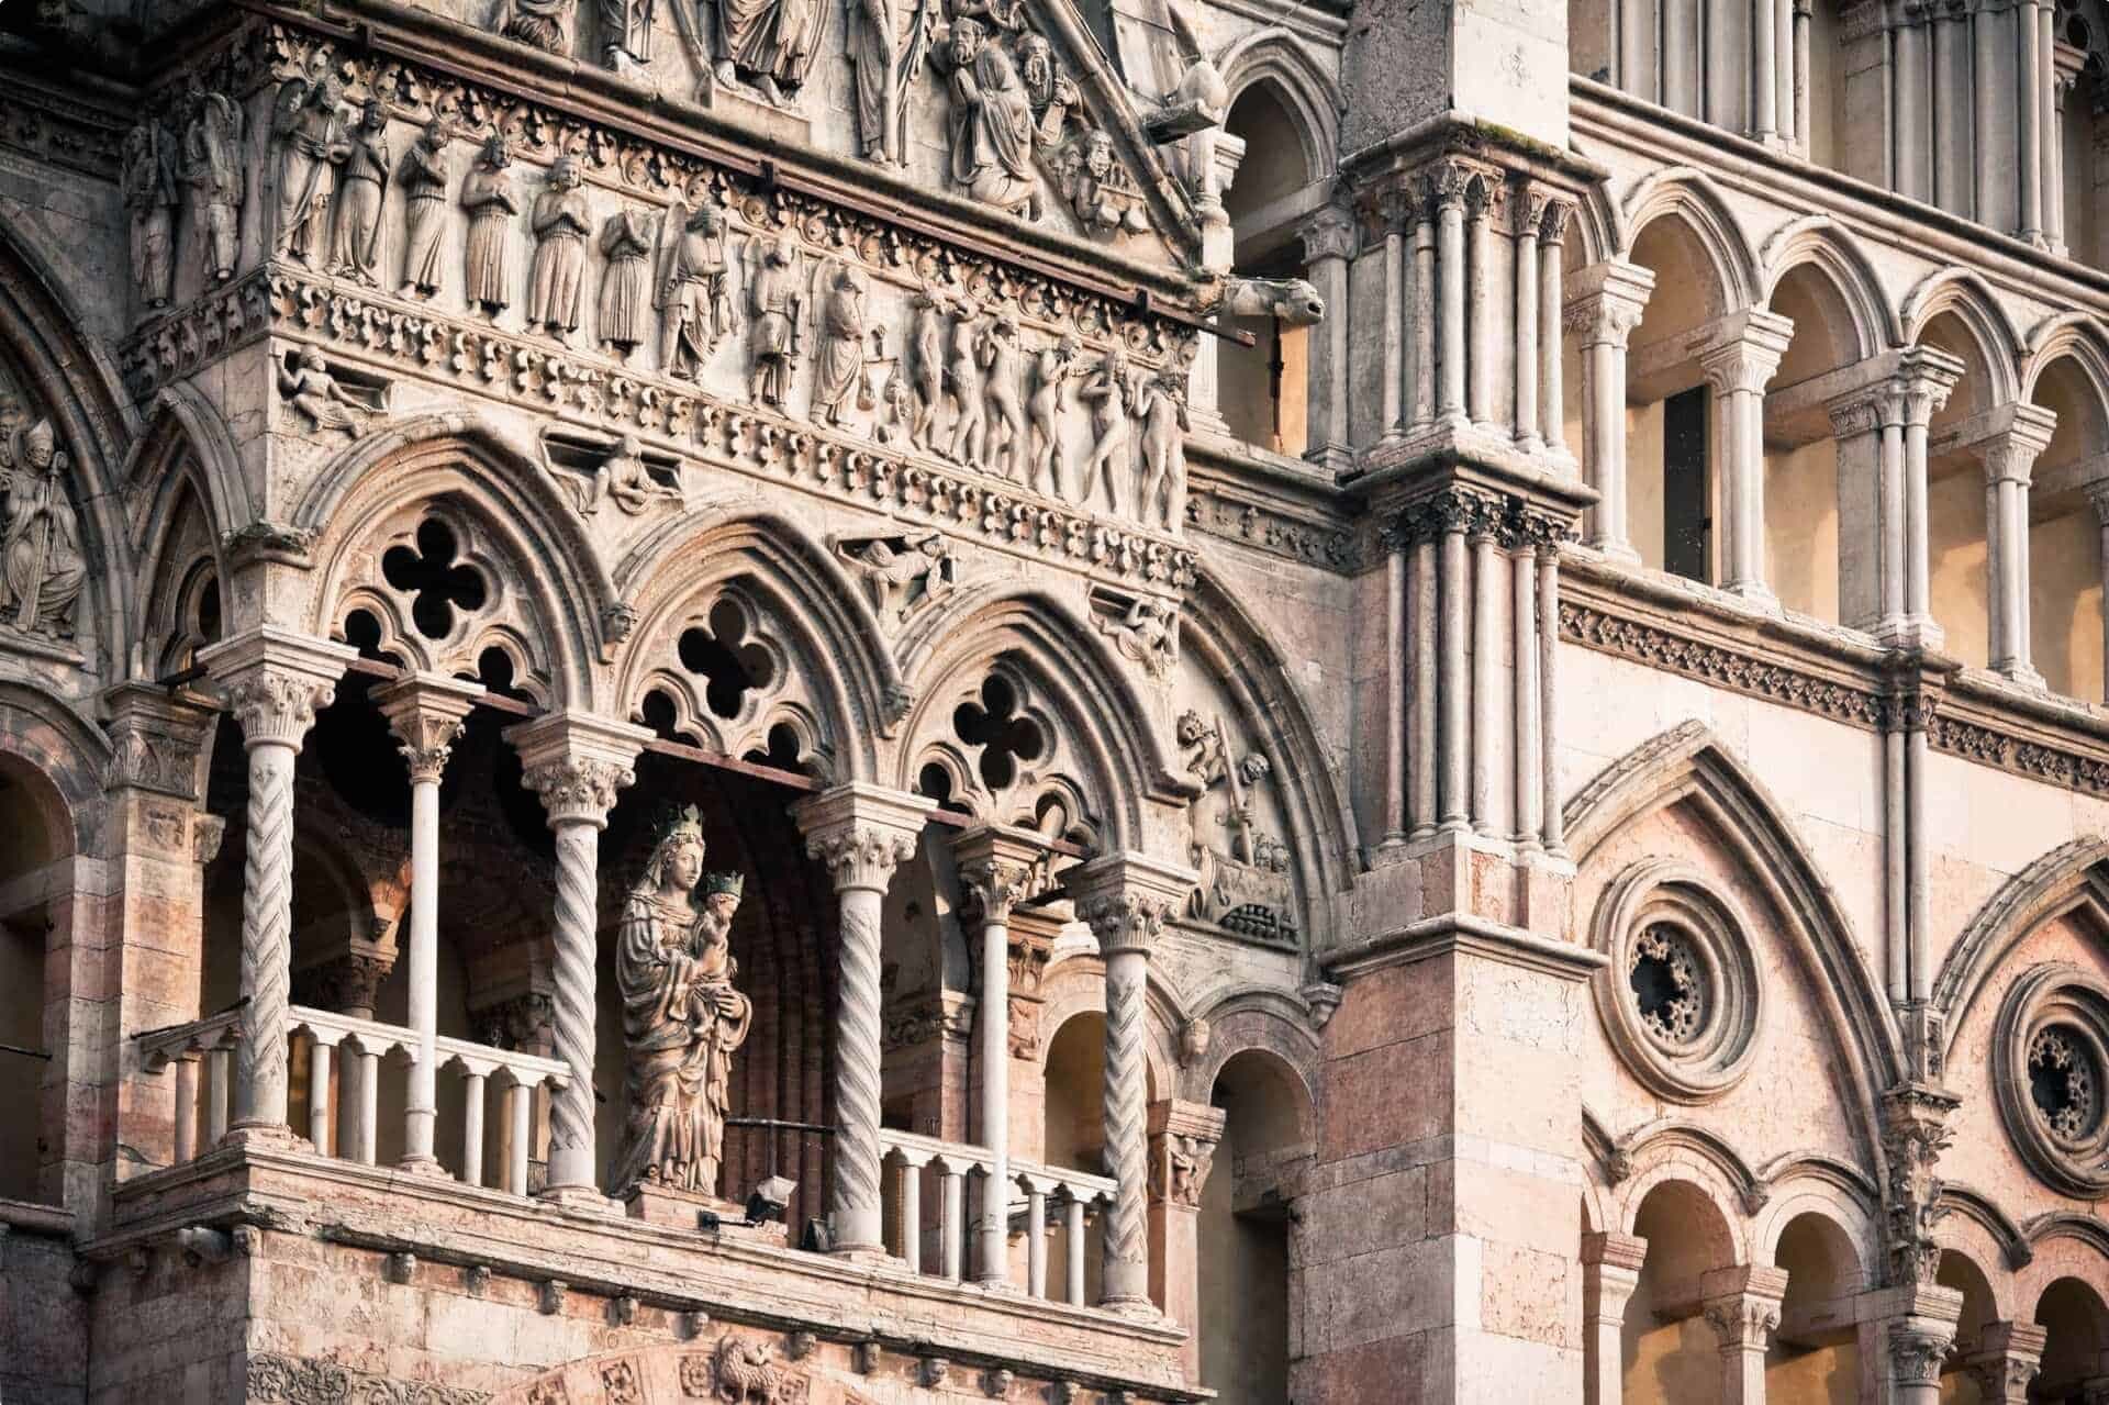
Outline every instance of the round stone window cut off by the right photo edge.
<svg viewBox="0 0 2109 1405">
<path fill-rule="evenodd" d="M 2023 975 L 1999 1006 L 1993 1078 L 2006 1131 L 2052 1188 L 2109 1194 L 2109 985 L 2065 962 Z"/>
</svg>

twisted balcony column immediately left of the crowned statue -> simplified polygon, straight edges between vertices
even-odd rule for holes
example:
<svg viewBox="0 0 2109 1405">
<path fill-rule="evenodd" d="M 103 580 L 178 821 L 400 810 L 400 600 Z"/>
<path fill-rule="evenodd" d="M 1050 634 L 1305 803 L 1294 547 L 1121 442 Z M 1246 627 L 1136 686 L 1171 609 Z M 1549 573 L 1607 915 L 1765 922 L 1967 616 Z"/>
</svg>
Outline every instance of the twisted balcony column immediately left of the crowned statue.
<svg viewBox="0 0 2109 1405">
<path fill-rule="evenodd" d="M 650 732 L 588 713 L 544 713 L 506 728 L 521 783 L 542 797 L 557 835 L 557 1057 L 569 1078 L 548 1108 L 548 1186 L 555 1200 L 601 1209 L 593 1146 L 595 958 L 599 951 L 601 831 L 616 793 L 637 778 Z"/>
</svg>

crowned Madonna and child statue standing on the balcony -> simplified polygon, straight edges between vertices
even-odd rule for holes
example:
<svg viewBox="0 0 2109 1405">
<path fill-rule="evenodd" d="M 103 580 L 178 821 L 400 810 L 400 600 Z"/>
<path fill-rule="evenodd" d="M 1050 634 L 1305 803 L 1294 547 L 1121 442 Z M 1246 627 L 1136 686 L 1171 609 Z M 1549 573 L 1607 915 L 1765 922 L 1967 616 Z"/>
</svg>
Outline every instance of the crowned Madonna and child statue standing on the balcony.
<svg viewBox="0 0 2109 1405">
<path fill-rule="evenodd" d="M 717 1200 L 732 1055 L 753 1023 L 753 1006 L 732 987 L 740 966 L 725 945 L 742 886 L 738 873 L 704 873 L 702 825 L 690 806 L 666 819 L 622 907 L 616 987 L 628 1122 L 610 1183 L 633 1198 L 633 1213 L 650 1215 L 639 1200 Z"/>
</svg>

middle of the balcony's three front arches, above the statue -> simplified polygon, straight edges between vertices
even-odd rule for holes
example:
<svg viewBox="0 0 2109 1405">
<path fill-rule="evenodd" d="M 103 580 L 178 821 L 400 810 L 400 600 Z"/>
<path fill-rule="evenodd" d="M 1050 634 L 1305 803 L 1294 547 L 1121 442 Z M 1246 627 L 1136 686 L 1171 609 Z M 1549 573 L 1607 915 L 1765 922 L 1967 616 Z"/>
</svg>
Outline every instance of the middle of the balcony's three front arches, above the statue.
<svg viewBox="0 0 2109 1405">
<path fill-rule="evenodd" d="M 635 713 L 664 665 L 656 641 L 677 616 L 711 591 L 744 582 L 770 608 L 772 624 L 791 635 L 810 679 L 806 705 L 835 762 L 831 781 L 877 778 L 877 738 L 898 728 L 907 684 L 856 582 L 789 519 L 723 511 L 669 517 L 624 557 L 616 580 L 637 610 L 610 700 L 622 715 Z"/>
</svg>

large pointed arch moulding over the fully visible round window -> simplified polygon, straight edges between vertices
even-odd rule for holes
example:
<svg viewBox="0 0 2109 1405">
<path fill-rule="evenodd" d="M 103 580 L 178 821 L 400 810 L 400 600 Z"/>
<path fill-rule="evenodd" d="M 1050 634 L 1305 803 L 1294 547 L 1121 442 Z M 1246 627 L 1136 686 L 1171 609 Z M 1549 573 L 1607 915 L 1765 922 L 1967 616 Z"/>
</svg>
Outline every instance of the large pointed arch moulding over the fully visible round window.
<svg viewBox="0 0 2109 1405">
<path fill-rule="evenodd" d="M 1877 1097 L 1904 1076 L 1896 1025 L 1852 935 L 1837 892 L 1763 783 L 1702 721 L 1685 721 L 1605 768 L 1565 808 L 1575 865 L 1645 814 L 1696 804 L 1784 920 L 1784 939 L 1810 975 L 1818 1019 L 1847 1074 L 1847 1116 L 1866 1165 L 1881 1165 Z"/>
</svg>

